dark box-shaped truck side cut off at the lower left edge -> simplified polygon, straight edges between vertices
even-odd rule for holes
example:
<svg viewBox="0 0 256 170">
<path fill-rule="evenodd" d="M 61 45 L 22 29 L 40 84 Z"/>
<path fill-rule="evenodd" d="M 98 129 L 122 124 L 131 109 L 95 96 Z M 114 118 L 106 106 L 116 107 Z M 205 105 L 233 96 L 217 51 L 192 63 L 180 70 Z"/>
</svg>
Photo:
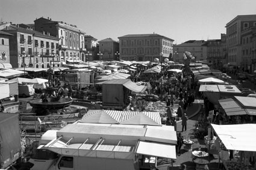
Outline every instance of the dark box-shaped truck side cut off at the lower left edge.
<svg viewBox="0 0 256 170">
<path fill-rule="evenodd" d="M 0 169 L 7 169 L 21 157 L 19 115 L 0 114 Z"/>
</svg>

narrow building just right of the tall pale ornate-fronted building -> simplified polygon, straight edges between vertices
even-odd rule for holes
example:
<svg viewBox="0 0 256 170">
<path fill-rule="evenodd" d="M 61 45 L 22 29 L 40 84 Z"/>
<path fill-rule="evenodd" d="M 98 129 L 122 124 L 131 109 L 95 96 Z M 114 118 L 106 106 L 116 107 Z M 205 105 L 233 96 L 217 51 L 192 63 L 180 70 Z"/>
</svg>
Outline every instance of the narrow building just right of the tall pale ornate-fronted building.
<svg viewBox="0 0 256 170">
<path fill-rule="evenodd" d="M 97 39 L 91 35 L 84 35 L 84 47 L 87 50 L 86 61 L 96 60 L 97 53 L 99 52 L 99 49 L 97 48 Z"/>
</svg>

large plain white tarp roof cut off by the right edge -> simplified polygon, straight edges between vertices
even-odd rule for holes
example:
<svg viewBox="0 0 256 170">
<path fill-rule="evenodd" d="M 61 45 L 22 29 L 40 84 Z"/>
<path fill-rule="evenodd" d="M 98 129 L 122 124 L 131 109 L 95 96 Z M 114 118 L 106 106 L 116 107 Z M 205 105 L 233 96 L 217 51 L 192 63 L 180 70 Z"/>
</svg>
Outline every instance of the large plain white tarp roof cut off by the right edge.
<svg viewBox="0 0 256 170">
<path fill-rule="evenodd" d="M 256 124 L 211 124 L 228 150 L 256 151 Z"/>
</svg>

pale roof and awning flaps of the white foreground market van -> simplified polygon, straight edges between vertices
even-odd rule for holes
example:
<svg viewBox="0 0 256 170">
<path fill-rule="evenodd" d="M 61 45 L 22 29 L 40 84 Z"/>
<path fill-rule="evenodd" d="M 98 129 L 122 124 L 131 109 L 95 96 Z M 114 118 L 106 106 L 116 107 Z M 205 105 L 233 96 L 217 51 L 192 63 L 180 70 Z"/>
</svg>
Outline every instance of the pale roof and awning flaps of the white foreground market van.
<svg viewBox="0 0 256 170">
<path fill-rule="evenodd" d="M 161 130 L 159 128 L 111 124 L 100 126 L 87 123 L 68 124 L 57 132 L 57 136 L 60 137 L 49 142 L 44 148 L 55 153 L 73 156 L 83 154 L 88 157 L 134 159 L 136 153 L 139 153 L 176 159 L 176 132 L 171 127 L 164 127 Z M 158 134 L 155 135 L 155 133 Z M 148 148 L 151 147 L 154 149 L 149 150 Z"/>
</svg>

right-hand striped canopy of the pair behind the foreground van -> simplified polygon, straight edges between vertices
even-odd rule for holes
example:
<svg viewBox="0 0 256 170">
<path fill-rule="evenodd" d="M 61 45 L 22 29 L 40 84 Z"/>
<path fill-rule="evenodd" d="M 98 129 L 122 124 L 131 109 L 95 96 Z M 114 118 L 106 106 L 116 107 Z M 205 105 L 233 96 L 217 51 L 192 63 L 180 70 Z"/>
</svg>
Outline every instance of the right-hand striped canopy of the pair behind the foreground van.
<svg viewBox="0 0 256 170">
<path fill-rule="evenodd" d="M 159 112 L 123 112 L 120 124 L 161 126 Z"/>
</svg>

